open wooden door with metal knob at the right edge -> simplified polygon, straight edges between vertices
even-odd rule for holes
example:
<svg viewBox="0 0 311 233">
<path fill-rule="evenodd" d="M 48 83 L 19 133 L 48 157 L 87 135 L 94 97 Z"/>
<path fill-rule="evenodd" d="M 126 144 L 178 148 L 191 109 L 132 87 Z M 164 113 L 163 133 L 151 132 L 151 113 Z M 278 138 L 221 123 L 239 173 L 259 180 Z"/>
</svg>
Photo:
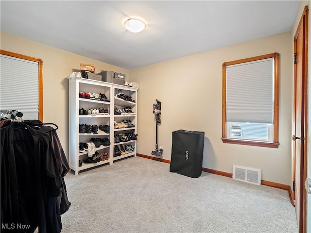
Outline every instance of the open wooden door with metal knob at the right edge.
<svg viewBox="0 0 311 233">
<path fill-rule="evenodd" d="M 294 197 L 299 233 L 306 232 L 306 146 L 308 7 L 306 6 L 294 37 Z"/>
</svg>

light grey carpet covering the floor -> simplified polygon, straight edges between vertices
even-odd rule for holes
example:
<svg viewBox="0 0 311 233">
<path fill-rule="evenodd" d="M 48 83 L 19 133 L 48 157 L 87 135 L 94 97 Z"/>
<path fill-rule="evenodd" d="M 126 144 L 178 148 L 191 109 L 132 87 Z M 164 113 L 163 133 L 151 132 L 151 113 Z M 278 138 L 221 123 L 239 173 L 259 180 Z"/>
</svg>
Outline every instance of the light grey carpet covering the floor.
<svg viewBox="0 0 311 233">
<path fill-rule="evenodd" d="M 62 233 L 297 233 L 288 191 L 130 157 L 66 177 Z"/>
</svg>

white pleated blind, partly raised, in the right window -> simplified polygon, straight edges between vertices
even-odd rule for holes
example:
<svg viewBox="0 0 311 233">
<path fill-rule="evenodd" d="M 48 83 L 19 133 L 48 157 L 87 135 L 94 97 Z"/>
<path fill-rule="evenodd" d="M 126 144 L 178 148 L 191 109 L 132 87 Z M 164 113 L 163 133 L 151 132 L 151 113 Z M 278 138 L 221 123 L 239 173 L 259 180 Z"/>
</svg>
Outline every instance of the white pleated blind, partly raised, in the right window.
<svg viewBox="0 0 311 233">
<path fill-rule="evenodd" d="M 226 121 L 273 123 L 274 59 L 226 67 Z"/>
</svg>

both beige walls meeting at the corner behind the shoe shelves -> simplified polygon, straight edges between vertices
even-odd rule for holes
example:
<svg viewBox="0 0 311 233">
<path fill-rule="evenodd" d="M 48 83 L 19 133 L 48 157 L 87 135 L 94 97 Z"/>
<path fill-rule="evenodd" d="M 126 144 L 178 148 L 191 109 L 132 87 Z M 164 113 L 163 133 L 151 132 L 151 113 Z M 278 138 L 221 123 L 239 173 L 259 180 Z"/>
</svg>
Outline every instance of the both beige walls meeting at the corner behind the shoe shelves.
<svg viewBox="0 0 311 233">
<path fill-rule="evenodd" d="M 1 50 L 43 60 L 44 122 L 59 126 L 58 135 L 68 154 L 68 79 L 80 63 L 95 71 L 114 70 L 138 82 L 138 153 L 155 150 L 155 99 L 162 101 L 159 145 L 170 160 L 172 132 L 205 132 L 203 167 L 232 172 L 232 165 L 260 168 L 261 179 L 291 184 L 292 37 L 281 33 L 164 63 L 124 70 L 64 50 L 1 32 Z M 222 64 L 278 52 L 280 54 L 280 146 L 278 149 L 224 144 L 222 132 Z"/>
</svg>

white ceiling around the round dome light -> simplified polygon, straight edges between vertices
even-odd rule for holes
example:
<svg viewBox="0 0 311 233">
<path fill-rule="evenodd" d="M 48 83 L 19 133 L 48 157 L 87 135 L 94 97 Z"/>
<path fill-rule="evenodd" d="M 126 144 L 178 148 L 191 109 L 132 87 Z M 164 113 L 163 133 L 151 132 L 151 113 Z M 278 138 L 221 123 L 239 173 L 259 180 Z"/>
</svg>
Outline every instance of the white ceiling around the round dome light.
<svg viewBox="0 0 311 233">
<path fill-rule="evenodd" d="M 0 1 L 1 31 L 133 69 L 291 31 L 299 1 Z M 144 19 L 128 32 L 130 17 Z"/>
</svg>

